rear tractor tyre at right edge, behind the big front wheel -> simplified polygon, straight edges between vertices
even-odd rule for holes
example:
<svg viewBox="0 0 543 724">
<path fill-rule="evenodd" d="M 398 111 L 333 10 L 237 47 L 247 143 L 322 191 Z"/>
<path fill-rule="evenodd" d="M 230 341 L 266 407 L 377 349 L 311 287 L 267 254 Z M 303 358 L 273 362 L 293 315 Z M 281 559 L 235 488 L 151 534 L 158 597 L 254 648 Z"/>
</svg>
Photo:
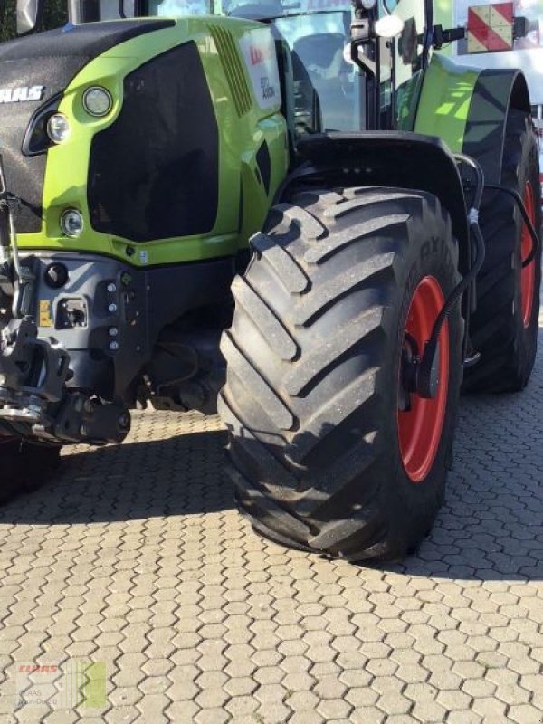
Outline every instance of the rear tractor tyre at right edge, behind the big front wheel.
<svg viewBox="0 0 543 724">
<path fill-rule="evenodd" d="M 500 183 L 518 191 L 540 232 L 538 143 L 529 113 L 510 110 Z M 472 348 L 481 357 L 466 369 L 466 392 L 516 392 L 528 383 L 538 344 L 541 248 L 522 268 L 532 241 L 508 195 L 488 190 L 480 216 L 486 257 L 470 322 Z"/>
</svg>

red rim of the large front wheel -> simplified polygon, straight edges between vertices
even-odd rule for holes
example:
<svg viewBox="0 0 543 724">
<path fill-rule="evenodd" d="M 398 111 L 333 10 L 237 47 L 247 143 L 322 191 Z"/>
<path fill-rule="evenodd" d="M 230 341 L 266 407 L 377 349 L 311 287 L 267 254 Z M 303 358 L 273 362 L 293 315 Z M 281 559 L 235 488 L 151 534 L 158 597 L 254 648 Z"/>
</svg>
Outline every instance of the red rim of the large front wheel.
<svg viewBox="0 0 543 724">
<path fill-rule="evenodd" d="M 405 320 L 405 335 L 416 340 L 422 355 L 433 323 L 443 309 L 444 297 L 439 282 L 426 276 L 414 290 Z M 433 399 L 413 393 L 411 409 L 398 410 L 398 441 L 405 472 L 413 482 L 423 481 L 430 472 L 443 433 L 449 386 L 449 327 L 443 324 L 438 346 L 438 386 Z"/>
</svg>

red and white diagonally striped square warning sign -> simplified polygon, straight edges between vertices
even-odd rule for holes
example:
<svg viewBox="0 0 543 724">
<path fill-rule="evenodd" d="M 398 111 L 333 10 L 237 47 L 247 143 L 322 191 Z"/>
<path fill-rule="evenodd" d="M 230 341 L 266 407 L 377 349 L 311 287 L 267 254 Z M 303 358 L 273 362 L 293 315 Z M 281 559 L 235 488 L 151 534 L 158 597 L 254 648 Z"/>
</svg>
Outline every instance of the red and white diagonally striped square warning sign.
<svg viewBox="0 0 543 724">
<path fill-rule="evenodd" d="M 468 52 L 510 51 L 513 47 L 514 4 L 468 8 Z"/>
</svg>

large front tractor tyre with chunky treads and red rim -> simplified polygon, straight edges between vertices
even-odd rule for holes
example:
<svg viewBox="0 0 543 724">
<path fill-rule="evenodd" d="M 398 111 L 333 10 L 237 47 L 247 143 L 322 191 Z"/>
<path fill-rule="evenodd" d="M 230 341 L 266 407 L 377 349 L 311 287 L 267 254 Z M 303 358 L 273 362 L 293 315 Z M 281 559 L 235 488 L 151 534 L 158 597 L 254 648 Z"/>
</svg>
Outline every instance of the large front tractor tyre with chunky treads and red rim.
<svg viewBox="0 0 543 724">
<path fill-rule="evenodd" d="M 448 214 L 403 189 L 307 192 L 271 209 L 252 250 L 219 399 L 239 506 L 287 546 L 404 557 L 443 502 L 461 385 L 457 305 L 435 399 L 398 411 L 405 331 L 422 347 L 459 280 Z"/>
</svg>

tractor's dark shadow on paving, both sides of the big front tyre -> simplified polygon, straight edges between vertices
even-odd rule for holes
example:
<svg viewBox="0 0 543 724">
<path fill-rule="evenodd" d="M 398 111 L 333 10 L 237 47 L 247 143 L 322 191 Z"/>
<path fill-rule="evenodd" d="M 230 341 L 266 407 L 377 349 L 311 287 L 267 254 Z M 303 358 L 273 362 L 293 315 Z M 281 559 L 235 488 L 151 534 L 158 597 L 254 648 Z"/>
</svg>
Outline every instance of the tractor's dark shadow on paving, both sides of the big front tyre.
<svg viewBox="0 0 543 724">
<path fill-rule="evenodd" d="M 464 397 L 446 501 L 407 576 L 543 579 L 541 381 L 521 395 Z M 152 438 L 153 425 L 149 425 Z M 0 523 L 93 523 L 229 510 L 225 433 L 195 432 L 64 455 L 54 480 L 0 510 Z"/>
</svg>

